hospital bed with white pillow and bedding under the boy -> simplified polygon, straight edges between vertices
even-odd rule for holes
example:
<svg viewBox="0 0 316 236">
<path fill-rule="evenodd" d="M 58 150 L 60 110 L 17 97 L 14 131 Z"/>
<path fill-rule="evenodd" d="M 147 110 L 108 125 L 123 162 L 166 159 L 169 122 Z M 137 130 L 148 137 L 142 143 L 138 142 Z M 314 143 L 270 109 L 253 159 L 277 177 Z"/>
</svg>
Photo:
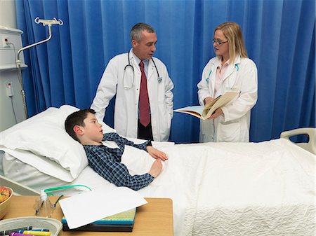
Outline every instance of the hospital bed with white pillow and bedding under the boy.
<svg viewBox="0 0 316 236">
<path fill-rule="evenodd" d="M 25 194 L 76 184 L 117 188 L 88 167 L 82 146 L 65 133 L 64 120 L 73 111 L 68 105 L 49 108 L 1 132 L 0 184 L 25 186 Z M 103 132 L 114 130 L 103 123 Z M 169 160 L 138 192 L 173 200 L 176 236 L 315 235 L 315 132 L 303 128 L 260 143 L 153 142 Z M 308 135 L 308 143 L 294 144 L 296 134 Z M 142 174 L 153 159 L 127 146 L 122 162 L 131 174 Z"/>
</svg>

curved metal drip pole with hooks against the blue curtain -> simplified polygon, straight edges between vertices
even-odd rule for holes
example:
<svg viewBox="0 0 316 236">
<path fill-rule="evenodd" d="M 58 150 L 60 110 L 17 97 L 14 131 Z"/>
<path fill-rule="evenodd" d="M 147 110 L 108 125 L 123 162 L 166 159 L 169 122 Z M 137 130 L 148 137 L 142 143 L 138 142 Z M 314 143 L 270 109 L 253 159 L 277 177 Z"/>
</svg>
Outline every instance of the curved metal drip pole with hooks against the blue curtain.
<svg viewBox="0 0 316 236">
<path fill-rule="evenodd" d="M 49 41 L 52 37 L 52 34 L 51 34 L 51 26 L 52 25 L 63 25 L 64 23 L 62 22 L 62 20 L 57 20 L 56 18 L 53 18 L 53 20 L 41 20 L 39 18 L 35 18 L 35 23 L 37 24 L 43 24 L 43 26 L 48 26 L 48 32 L 49 32 L 49 36 L 47 39 L 44 39 L 43 41 L 39 41 L 37 43 L 33 43 L 29 46 L 25 46 L 24 48 L 21 48 L 20 50 L 18 50 L 18 55 L 17 55 L 17 61 L 16 61 L 16 64 L 18 65 L 18 78 L 19 78 L 19 82 L 20 82 L 20 85 L 21 85 L 21 95 L 22 95 L 22 100 L 23 100 L 23 106 L 24 106 L 24 111 L 25 111 L 25 117 L 27 118 L 27 106 L 26 106 L 26 100 L 25 100 L 25 90 L 23 88 L 23 83 L 22 83 L 22 74 L 21 74 L 21 62 L 20 62 L 20 53 L 22 52 L 22 50 L 25 50 L 27 48 L 32 48 L 34 46 L 37 46 L 41 43 L 46 43 L 47 41 Z"/>
</svg>

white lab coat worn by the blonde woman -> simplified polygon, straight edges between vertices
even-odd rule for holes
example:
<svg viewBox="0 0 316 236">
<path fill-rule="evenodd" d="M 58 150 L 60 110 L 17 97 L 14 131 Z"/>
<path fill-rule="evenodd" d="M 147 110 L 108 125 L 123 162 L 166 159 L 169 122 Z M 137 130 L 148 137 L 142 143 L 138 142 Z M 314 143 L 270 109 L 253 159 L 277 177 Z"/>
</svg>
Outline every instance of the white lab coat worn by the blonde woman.
<svg viewBox="0 0 316 236">
<path fill-rule="evenodd" d="M 225 92 L 239 91 L 239 96 L 222 108 L 223 115 L 212 120 L 201 120 L 199 140 L 249 141 L 250 110 L 257 101 L 257 67 L 249 58 L 236 57 L 225 71 L 220 89 L 215 92 L 216 69 L 220 57 L 213 57 L 204 67 L 202 80 L 197 84 L 199 104 L 206 97 L 218 97 Z"/>
</svg>

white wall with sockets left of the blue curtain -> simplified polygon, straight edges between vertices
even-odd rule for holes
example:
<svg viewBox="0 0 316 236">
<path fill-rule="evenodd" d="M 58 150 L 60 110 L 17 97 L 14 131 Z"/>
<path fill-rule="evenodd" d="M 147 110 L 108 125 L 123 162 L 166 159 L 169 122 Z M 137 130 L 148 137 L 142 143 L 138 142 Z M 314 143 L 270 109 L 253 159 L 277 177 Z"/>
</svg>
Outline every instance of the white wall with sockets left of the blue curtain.
<svg viewBox="0 0 316 236">
<path fill-rule="evenodd" d="M 22 47 L 20 40 L 22 32 L 16 27 L 15 1 L 0 0 L 0 131 L 6 130 L 26 118 L 20 94 L 18 69 L 15 66 L 15 55 L 17 50 Z M 4 46 L 4 37 L 14 44 L 14 48 L 13 45 Z M 22 59 L 22 53 L 20 58 Z M 12 97 L 7 95 L 8 82 L 12 82 Z"/>
</svg>

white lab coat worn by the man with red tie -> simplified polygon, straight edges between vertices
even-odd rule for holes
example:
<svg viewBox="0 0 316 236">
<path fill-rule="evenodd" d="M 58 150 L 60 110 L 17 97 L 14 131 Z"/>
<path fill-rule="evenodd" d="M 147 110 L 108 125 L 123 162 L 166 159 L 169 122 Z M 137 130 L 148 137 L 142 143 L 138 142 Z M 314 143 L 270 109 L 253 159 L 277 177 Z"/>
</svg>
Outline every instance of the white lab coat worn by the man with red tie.
<svg viewBox="0 0 316 236">
<path fill-rule="evenodd" d="M 128 54 L 124 53 L 113 57 L 103 73 L 91 109 L 96 111 L 98 120 L 103 120 L 106 107 L 112 97 L 116 95 L 114 129 L 124 137 L 136 138 L 138 132 L 138 100 L 141 72 L 133 50 L 129 53 L 129 59 L 134 69 L 134 78 L 131 68 L 124 70 L 128 64 Z M 159 76 L 162 78 L 160 82 L 154 63 L 159 71 Z M 150 60 L 147 70 L 147 90 L 150 100 L 152 136 L 154 141 L 168 141 L 171 118 L 173 117 L 173 93 L 171 91 L 173 83 L 169 78 L 166 66 L 155 57 L 154 63 Z M 123 78 L 126 81 L 123 81 Z"/>
</svg>

